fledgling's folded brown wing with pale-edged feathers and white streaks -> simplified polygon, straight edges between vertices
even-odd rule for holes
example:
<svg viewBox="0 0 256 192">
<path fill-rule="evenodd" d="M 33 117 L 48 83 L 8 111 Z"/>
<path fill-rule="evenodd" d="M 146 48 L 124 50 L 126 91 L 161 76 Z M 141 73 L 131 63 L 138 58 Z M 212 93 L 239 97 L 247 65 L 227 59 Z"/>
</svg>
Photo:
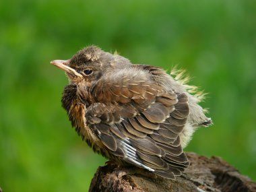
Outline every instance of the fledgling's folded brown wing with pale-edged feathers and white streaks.
<svg viewBox="0 0 256 192">
<path fill-rule="evenodd" d="M 137 73 L 92 87 L 95 103 L 87 122 L 113 158 L 174 179 L 189 164 L 179 137 L 189 115 L 187 96 L 166 92 Z"/>
</svg>

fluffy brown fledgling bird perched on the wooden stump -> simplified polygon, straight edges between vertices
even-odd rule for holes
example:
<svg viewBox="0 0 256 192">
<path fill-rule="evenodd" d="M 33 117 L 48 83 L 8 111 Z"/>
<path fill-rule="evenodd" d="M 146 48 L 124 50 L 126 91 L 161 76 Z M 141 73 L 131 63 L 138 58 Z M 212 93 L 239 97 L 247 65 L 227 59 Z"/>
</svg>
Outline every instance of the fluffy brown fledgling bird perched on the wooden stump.
<svg viewBox="0 0 256 192">
<path fill-rule="evenodd" d="M 119 166 L 175 179 L 189 166 L 183 149 L 195 130 L 212 125 L 199 105 L 204 94 L 178 69 L 168 74 L 94 45 L 51 64 L 69 79 L 61 102 L 72 127 Z"/>
</svg>

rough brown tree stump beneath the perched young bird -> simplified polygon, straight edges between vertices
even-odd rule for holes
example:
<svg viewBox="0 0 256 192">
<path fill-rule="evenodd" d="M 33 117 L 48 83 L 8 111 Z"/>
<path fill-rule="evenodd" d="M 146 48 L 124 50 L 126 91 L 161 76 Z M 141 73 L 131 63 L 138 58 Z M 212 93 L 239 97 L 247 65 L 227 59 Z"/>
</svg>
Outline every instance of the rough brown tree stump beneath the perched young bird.
<svg viewBox="0 0 256 192">
<path fill-rule="evenodd" d="M 115 172 L 115 164 L 100 166 L 94 174 L 89 191 L 256 191 L 255 182 L 241 175 L 221 158 L 207 158 L 195 153 L 187 153 L 187 157 L 190 166 L 175 181 L 162 177 L 151 179 L 140 174 L 126 174 L 119 178 Z"/>
</svg>

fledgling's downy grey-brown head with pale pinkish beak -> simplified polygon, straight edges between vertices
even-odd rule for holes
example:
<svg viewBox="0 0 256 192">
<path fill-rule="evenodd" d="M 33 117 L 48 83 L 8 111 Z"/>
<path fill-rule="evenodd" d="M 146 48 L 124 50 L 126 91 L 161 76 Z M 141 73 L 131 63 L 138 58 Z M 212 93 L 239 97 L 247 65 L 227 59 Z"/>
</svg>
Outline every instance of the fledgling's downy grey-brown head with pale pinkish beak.
<svg viewBox="0 0 256 192">
<path fill-rule="evenodd" d="M 90 86 L 92 82 L 123 65 L 131 64 L 128 59 L 102 51 L 97 46 L 88 46 L 78 51 L 71 59 L 54 60 L 51 64 L 63 69 L 69 82 L 84 82 Z"/>
</svg>

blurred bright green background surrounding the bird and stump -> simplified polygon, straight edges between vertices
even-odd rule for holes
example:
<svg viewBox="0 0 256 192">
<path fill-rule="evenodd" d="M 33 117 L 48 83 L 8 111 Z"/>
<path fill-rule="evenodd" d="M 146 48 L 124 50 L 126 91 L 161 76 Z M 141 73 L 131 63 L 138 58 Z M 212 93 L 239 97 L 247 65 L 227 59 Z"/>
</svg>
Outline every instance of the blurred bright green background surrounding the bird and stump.
<svg viewBox="0 0 256 192">
<path fill-rule="evenodd" d="M 71 129 L 53 59 L 96 44 L 133 63 L 186 69 L 214 126 L 185 149 L 256 180 L 256 1 L 0 1 L 0 186 L 88 191 L 104 158 Z"/>
</svg>

